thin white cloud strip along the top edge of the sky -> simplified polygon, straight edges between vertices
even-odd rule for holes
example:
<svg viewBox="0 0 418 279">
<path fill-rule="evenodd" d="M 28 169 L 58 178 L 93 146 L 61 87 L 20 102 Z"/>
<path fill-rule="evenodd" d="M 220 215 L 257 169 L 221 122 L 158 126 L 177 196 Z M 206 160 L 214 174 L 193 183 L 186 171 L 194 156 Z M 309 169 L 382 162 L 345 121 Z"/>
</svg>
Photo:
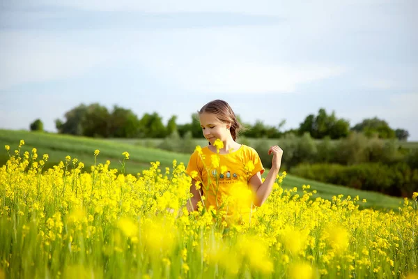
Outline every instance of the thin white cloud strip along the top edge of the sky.
<svg viewBox="0 0 418 279">
<path fill-rule="evenodd" d="M 318 1 L 276 1 L 276 0 L 213 0 L 213 1 L 194 1 L 194 0 L 156 0 L 156 1 L 135 1 L 135 0 L 38 0 L 36 5 L 63 6 L 68 8 L 79 8 L 84 10 L 99 11 L 142 11 L 146 13 L 194 13 L 194 12 L 233 12 L 247 13 L 252 15 L 286 15 L 291 10 L 299 8 L 300 14 L 313 14 L 311 11 L 329 11 L 337 6 L 369 5 L 373 3 L 385 4 L 392 3 L 391 0 L 318 0 Z M 31 6 L 35 5 L 27 1 L 15 2 L 15 5 Z"/>
</svg>

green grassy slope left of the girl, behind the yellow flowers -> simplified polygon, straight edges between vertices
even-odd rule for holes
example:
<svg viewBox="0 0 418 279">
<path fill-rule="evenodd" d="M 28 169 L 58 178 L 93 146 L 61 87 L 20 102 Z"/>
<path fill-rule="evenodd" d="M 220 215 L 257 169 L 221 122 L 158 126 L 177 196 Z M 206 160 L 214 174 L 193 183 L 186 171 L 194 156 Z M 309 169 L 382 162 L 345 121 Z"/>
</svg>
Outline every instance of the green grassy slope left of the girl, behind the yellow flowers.
<svg viewBox="0 0 418 279">
<path fill-rule="evenodd" d="M 65 156 L 77 158 L 90 166 L 94 163 L 94 151 L 100 150 L 98 163 L 104 163 L 106 160 L 111 161 L 111 168 L 121 169 L 119 163 L 123 160 L 122 153 L 127 151 L 130 153 L 130 160 L 126 163 L 126 172 L 136 174 L 142 169 L 148 169 L 150 162 L 159 160 L 162 167 L 171 167 L 174 159 L 178 162 L 187 164 L 189 156 L 187 154 L 162 151 L 160 149 L 149 149 L 132 144 L 110 142 L 107 140 L 96 140 L 89 137 L 74 137 L 70 135 L 56 135 L 50 133 L 30 133 L 27 131 L 16 130 L 0 130 L 0 144 L 10 145 L 10 151 L 17 149 L 20 140 L 25 141 L 22 151 L 29 151 L 35 147 L 38 149 L 39 156 L 47 153 L 49 161 L 47 167 L 58 164 L 61 160 L 65 160 Z M 8 154 L 3 149 L 0 152 L 0 164 L 3 165 L 8 160 Z M 88 170 L 88 169 L 87 169 Z"/>
</svg>

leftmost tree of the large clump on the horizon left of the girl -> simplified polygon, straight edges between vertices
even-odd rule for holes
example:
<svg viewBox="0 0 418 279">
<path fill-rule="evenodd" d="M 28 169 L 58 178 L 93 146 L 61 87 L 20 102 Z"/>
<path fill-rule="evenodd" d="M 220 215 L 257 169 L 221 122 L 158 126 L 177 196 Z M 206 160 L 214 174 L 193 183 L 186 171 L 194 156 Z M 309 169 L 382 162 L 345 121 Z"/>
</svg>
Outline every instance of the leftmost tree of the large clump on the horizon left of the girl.
<svg viewBox="0 0 418 279">
<path fill-rule="evenodd" d="M 82 122 L 86 117 L 87 107 L 81 104 L 65 113 L 65 122 L 61 119 L 55 120 L 58 133 L 70 135 L 83 135 Z"/>
</svg>

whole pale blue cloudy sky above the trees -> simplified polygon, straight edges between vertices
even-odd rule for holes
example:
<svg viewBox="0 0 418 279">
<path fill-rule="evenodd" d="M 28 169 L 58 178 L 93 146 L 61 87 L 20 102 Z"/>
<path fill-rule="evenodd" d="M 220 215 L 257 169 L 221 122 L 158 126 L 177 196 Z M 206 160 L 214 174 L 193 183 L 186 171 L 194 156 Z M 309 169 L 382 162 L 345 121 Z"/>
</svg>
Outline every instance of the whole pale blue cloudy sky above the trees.
<svg viewBox="0 0 418 279">
<path fill-rule="evenodd" d="M 305 2 L 1 1 L 0 128 L 96 102 L 185 123 L 222 98 L 248 123 L 324 107 L 418 140 L 418 1 Z"/>
</svg>

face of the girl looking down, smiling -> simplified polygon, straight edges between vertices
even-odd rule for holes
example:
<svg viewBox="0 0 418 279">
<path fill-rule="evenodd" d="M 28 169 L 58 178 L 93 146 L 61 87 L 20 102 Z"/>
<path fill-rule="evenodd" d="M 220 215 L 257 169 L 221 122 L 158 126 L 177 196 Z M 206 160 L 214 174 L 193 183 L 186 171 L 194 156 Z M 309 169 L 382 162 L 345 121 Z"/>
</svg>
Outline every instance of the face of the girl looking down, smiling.
<svg viewBox="0 0 418 279">
<path fill-rule="evenodd" d="M 231 132 L 228 130 L 228 128 L 231 126 L 231 123 L 224 123 L 219 121 L 216 114 L 203 112 L 199 116 L 199 119 L 203 135 L 206 137 L 206 140 L 210 142 L 210 144 L 213 144 L 216 139 L 225 142 L 228 137 L 231 137 Z"/>
</svg>

